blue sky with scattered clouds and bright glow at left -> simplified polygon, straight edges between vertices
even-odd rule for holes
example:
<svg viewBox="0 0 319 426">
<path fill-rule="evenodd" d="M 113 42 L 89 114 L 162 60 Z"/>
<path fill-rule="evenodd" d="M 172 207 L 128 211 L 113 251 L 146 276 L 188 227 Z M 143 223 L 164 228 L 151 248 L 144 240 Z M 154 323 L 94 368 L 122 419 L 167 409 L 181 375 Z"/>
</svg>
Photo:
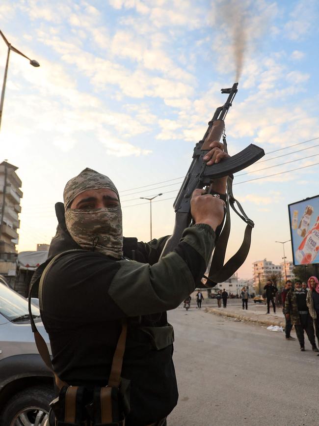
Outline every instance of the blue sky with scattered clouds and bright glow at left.
<svg viewBox="0 0 319 426">
<path fill-rule="evenodd" d="M 116 184 L 125 236 L 149 241 L 140 197 L 159 193 L 153 237 L 170 234 L 193 147 L 239 72 L 229 153 L 255 143 L 266 156 L 234 178 L 255 223 L 238 276 L 281 262 L 288 204 L 319 194 L 318 18 L 316 0 L 2 0 L 1 31 L 40 63 L 11 52 L 0 129 L 1 161 L 19 168 L 24 193 L 18 251 L 50 243 L 54 203 L 86 167 Z M 6 54 L 0 40 L 0 79 Z M 233 215 L 228 256 L 244 228 Z"/>
</svg>

